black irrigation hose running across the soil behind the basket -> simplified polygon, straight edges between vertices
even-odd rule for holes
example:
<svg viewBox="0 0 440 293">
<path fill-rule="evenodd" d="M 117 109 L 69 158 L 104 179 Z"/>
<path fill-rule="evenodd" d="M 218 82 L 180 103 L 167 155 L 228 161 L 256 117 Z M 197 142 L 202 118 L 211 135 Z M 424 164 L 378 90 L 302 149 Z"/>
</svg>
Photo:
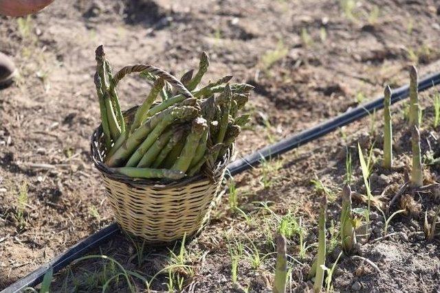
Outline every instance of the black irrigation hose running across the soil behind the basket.
<svg viewBox="0 0 440 293">
<path fill-rule="evenodd" d="M 426 89 L 430 89 L 432 86 L 435 86 L 440 83 L 440 72 L 433 73 L 431 75 L 426 76 L 419 82 L 419 91 L 425 91 Z M 409 95 L 409 86 L 401 86 L 398 89 L 395 89 L 391 94 L 391 104 L 395 102 L 399 102 L 401 99 L 405 99 Z M 236 161 L 230 163 L 228 165 L 228 173 L 233 176 L 235 174 L 239 174 L 255 165 L 258 165 L 261 160 L 274 158 L 278 155 L 281 155 L 289 150 L 293 150 L 294 148 L 298 148 L 298 146 L 308 143 L 309 141 L 313 141 L 314 139 L 318 139 L 323 137 L 325 134 L 336 130 L 342 126 L 347 124 L 351 124 L 351 122 L 356 121 L 366 115 L 369 115 L 374 110 L 379 110 L 384 107 L 384 97 L 379 97 L 375 99 L 373 102 L 369 102 L 363 105 L 360 105 L 356 108 L 348 110 L 346 113 L 342 113 L 334 117 L 333 119 L 329 119 L 317 126 L 304 130 L 298 134 L 293 134 L 290 137 L 282 139 L 278 141 L 278 143 L 274 143 L 272 145 L 267 145 L 265 148 L 261 150 L 257 150 L 256 152 L 249 154 L 248 156 L 244 156 L 241 159 L 237 159 Z M 82 257 L 87 253 L 91 248 L 95 248 L 100 246 L 100 244 L 107 242 L 113 235 L 118 233 L 119 226 L 116 223 L 113 223 L 105 228 L 102 228 L 100 231 L 90 235 L 86 239 L 78 244 L 72 246 L 67 251 L 58 255 L 52 261 L 45 263 L 40 268 L 34 270 L 28 274 L 28 276 L 23 277 L 16 283 L 13 283 L 8 288 L 5 288 L 1 293 L 5 292 L 19 292 L 27 287 L 32 287 L 38 285 L 43 280 L 44 274 L 53 268 L 54 272 L 58 272 L 65 266 L 68 266 L 69 263 Z"/>
</svg>

